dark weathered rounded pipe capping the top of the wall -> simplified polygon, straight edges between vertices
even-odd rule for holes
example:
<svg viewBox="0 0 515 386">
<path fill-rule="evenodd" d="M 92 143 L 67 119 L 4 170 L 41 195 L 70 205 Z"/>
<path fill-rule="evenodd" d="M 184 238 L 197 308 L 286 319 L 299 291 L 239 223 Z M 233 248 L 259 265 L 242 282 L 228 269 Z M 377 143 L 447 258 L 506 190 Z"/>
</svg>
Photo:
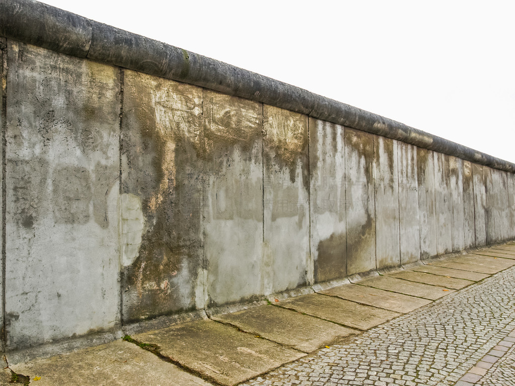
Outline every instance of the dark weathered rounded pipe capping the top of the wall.
<svg viewBox="0 0 515 386">
<path fill-rule="evenodd" d="M 515 164 L 448 139 L 35 0 L 0 0 L 0 36 L 270 104 L 515 173 Z"/>
</svg>

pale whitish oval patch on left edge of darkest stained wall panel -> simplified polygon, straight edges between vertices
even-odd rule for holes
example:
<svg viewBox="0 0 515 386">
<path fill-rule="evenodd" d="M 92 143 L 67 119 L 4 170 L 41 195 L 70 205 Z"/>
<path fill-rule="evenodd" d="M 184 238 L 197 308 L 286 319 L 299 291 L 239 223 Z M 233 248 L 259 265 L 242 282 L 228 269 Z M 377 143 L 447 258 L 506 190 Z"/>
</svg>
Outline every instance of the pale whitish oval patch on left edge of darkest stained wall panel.
<svg viewBox="0 0 515 386">
<path fill-rule="evenodd" d="M 139 255 L 144 229 L 144 217 L 141 198 L 131 194 L 123 194 L 121 202 L 121 243 L 122 265 L 130 266 Z"/>
</svg>

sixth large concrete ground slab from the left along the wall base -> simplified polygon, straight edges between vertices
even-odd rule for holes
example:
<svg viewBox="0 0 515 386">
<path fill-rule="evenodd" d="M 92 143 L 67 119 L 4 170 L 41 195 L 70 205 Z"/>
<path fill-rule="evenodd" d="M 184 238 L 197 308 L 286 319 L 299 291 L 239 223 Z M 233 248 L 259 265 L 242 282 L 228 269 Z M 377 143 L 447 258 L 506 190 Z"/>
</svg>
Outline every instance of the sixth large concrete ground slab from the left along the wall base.
<svg viewBox="0 0 515 386">
<path fill-rule="evenodd" d="M 383 289 L 386 291 L 403 293 L 405 295 L 423 297 L 424 299 L 436 300 L 442 296 L 454 292 L 453 289 L 431 286 L 423 283 L 408 282 L 408 280 L 396 277 L 376 276 L 361 280 L 359 285 Z"/>
</svg>

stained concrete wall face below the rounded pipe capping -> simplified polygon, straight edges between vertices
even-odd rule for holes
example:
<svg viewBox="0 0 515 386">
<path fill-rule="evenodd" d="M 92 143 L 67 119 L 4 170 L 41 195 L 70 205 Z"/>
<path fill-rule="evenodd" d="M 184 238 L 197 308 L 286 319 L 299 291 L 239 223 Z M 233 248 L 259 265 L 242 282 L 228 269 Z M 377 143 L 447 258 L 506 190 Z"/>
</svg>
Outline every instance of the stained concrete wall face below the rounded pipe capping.
<svg viewBox="0 0 515 386">
<path fill-rule="evenodd" d="M 509 171 L 0 46 L 9 352 L 515 237 Z"/>
</svg>

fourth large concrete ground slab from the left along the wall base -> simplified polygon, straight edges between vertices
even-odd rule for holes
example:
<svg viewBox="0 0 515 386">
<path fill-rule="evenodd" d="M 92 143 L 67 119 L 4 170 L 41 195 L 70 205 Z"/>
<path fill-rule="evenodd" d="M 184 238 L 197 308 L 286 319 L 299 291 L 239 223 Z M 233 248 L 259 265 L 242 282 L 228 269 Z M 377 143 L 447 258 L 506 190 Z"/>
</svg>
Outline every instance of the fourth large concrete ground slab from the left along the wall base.
<svg viewBox="0 0 515 386">
<path fill-rule="evenodd" d="M 318 293 L 287 299 L 277 305 L 360 330 L 367 330 L 401 315 Z"/>
</svg>

